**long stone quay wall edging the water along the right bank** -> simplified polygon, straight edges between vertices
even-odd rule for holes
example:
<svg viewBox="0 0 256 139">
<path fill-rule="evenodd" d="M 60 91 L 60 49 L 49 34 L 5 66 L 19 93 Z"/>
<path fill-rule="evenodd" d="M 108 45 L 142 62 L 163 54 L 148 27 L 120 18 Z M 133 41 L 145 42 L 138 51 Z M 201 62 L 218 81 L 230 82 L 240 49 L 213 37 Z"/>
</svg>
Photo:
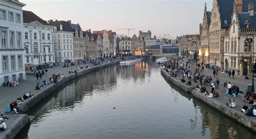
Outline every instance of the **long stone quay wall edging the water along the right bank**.
<svg viewBox="0 0 256 139">
<path fill-rule="evenodd" d="M 203 101 L 207 105 L 213 107 L 214 109 L 225 114 L 226 116 L 231 117 L 234 121 L 239 122 L 246 128 L 251 129 L 254 132 L 256 131 L 256 122 L 252 119 L 252 117 L 246 116 L 244 113 L 238 113 L 236 110 L 227 107 L 225 103 L 222 103 L 213 98 L 206 97 L 203 93 L 198 92 L 195 86 L 186 86 L 178 79 L 172 78 L 167 72 L 164 71 L 164 69 L 161 69 L 161 74 L 165 79 L 170 81 L 171 84 L 183 89 L 183 91 L 185 92 L 192 93 L 195 98 Z"/>
</svg>

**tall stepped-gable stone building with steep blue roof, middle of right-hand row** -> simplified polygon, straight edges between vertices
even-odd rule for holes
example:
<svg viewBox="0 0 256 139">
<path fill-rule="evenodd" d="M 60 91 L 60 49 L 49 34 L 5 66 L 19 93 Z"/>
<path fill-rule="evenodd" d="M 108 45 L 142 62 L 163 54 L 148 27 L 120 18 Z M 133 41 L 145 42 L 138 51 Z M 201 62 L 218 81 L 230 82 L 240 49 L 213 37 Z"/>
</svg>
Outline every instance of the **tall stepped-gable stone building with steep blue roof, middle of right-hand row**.
<svg viewBox="0 0 256 139">
<path fill-rule="evenodd" d="M 224 67 L 224 34 L 231 24 L 234 0 L 214 0 L 209 26 L 210 64 Z"/>
</svg>

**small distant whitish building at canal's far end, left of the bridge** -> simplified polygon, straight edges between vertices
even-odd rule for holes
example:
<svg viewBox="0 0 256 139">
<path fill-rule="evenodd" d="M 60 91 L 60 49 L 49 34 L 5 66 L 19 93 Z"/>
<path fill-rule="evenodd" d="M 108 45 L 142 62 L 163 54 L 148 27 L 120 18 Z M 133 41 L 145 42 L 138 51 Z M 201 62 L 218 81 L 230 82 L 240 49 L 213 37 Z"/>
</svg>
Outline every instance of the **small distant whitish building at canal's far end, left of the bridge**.
<svg viewBox="0 0 256 139">
<path fill-rule="evenodd" d="M 131 52 L 132 40 L 130 37 L 122 37 L 119 43 L 119 52 L 121 54 L 129 54 Z"/>
</svg>

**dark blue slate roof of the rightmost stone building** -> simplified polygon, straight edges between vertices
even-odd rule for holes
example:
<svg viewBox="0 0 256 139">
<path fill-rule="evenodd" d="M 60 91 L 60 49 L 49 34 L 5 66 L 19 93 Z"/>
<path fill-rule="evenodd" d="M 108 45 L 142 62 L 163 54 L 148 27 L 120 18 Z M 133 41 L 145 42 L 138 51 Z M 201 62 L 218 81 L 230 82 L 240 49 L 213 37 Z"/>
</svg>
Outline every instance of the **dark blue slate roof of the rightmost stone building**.
<svg viewBox="0 0 256 139">
<path fill-rule="evenodd" d="M 250 16 L 248 12 L 238 13 L 238 18 L 240 22 L 240 29 L 246 28 L 245 26 L 246 20 L 250 24 L 250 29 L 256 29 L 256 12 L 254 13 L 254 16 Z"/>
</svg>

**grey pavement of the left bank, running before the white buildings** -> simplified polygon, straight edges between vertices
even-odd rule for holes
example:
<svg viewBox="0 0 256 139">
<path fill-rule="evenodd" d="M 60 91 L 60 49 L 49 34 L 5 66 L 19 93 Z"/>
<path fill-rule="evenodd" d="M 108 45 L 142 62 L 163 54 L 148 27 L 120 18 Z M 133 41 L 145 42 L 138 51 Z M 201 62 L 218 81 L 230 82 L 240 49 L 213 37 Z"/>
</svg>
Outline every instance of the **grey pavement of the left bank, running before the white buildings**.
<svg viewBox="0 0 256 139">
<path fill-rule="evenodd" d="M 108 60 L 105 59 L 104 62 L 101 62 L 100 64 L 106 64 Z M 52 77 L 53 74 L 55 75 L 62 75 L 64 74 L 66 77 L 69 76 L 69 70 L 73 70 L 75 71 L 77 67 L 83 67 L 83 70 L 85 70 L 86 66 L 88 66 L 88 68 L 93 67 L 92 64 L 82 64 L 82 65 L 78 65 L 76 64 L 75 66 L 70 66 L 69 67 L 63 67 L 63 64 L 57 65 L 53 68 L 48 68 L 48 73 L 47 75 L 44 74 L 42 77 L 42 81 L 46 80 L 46 82 L 49 82 L 50 77 Z M 83 71 L 81 70 L 81 71 Z M 39 70 L 42 71 L 42 70 Z M 30 71 L 26 71 L 28 73 L 31 73 Z M 78 71 L 79 73 L 80 71 Z M 71 73 L 72 74 L 72 73 Z M 5 105 L 10 105 L 10 103 L 14 102 L 15 100 L 17 100 L 17 98 L 19 98 L 20 96 L 24 95 L 24 92 L 29 92 L 31 91 L 31 94 L 33 94 L 34 96 L 37 95 L 39 92 L 42 92 L 43 89 L 48 88 L 49 86 L 43 87 L 40 90 L 35 90 L 33 88 L 35 88 L 36 83 L 39 82 L 41 83 L 41 80 L 36 79 L 35 75 L 27 75 L 26 77 L 27 79 L 25 81 L 21 81 L 19 82 L 18 86 L 14 86 L 14 87 L 0 87 L 0 113 L 4 113 L 4 106 Z M 14 114 L 13 112 L 11 113 L 5 113 L 5 115 L 11 115 Z"/>
</svg>

